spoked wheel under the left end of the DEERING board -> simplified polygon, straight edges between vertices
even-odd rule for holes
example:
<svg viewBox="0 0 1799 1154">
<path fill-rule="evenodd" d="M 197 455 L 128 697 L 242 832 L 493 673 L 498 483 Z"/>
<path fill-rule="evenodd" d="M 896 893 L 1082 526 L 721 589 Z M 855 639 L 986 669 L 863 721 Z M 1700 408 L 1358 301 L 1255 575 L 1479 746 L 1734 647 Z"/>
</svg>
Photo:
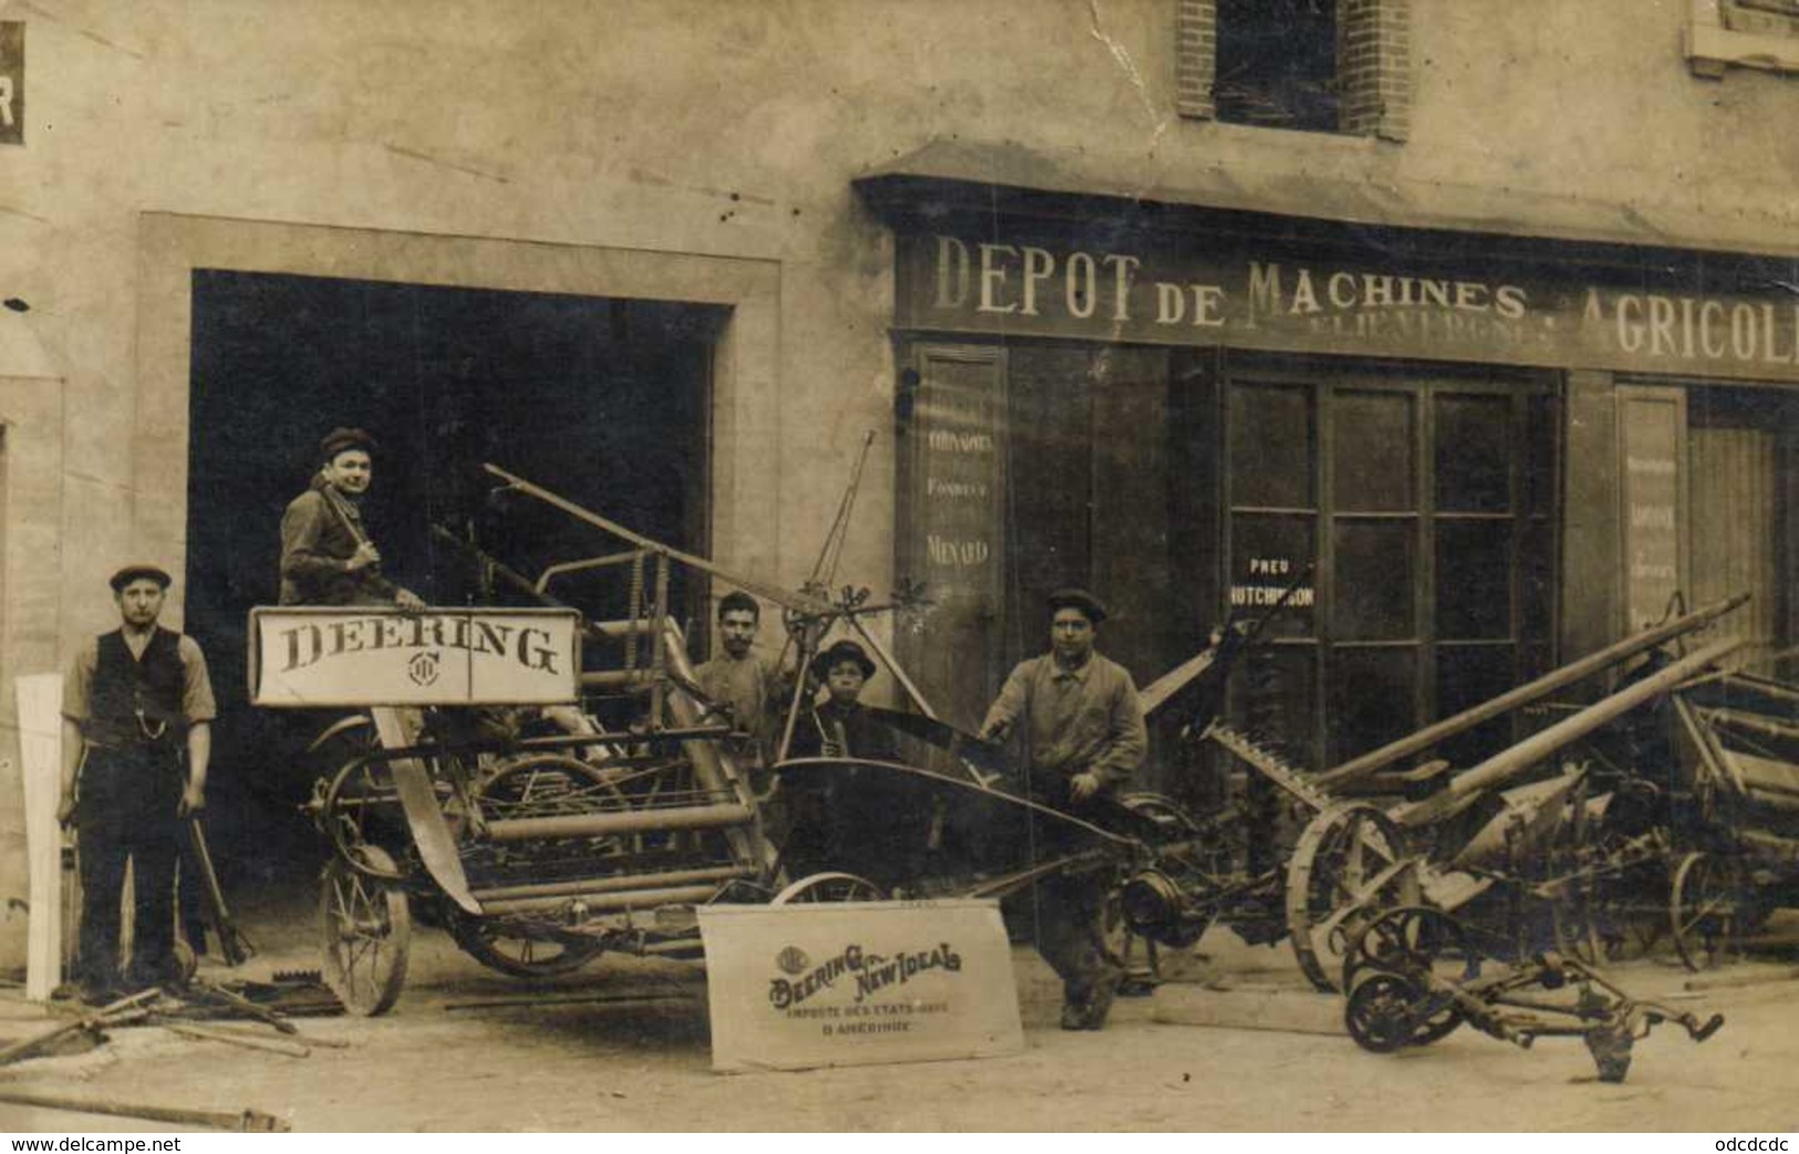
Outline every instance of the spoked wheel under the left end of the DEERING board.
<svg viewBox="0 0 1799 1154">
<path fill-rule="evenodd" d="M 358 866 L 333 857 L 318 893 L 324 980 L 351 1014 L 385 1014 L 399 999 L 412 947 L 407 893 L 376 875 L 396 874 L 385 850 L 365 845 Z"/>
</svg>

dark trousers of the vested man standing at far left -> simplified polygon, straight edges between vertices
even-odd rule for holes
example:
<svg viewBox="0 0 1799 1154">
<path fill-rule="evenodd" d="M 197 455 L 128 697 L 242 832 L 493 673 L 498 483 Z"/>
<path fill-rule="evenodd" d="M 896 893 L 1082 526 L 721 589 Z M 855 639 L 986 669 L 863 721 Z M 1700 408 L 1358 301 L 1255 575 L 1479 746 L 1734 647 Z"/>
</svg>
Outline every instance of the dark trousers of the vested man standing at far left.
<svg viewBox="0 0 1799 1154">
<path fill-rule="evenodd" d="M 126 983 L 178 976 L 175 870 L 182 856 L 180 764 L 160 751 L 90 750 L 81 769 L 81 949 L 76 980 L 119 983 L 119 904 L 131 865 L 135 919 Z"/>
</svg>

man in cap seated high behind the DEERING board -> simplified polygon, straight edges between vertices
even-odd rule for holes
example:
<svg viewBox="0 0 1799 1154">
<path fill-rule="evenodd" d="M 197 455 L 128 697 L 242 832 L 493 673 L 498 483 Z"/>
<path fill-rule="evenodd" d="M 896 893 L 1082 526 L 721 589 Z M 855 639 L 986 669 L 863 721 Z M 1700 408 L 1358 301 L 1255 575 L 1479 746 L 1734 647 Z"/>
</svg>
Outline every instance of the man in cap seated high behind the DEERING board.
<svg viewBox="0 0 1799 1154">
<path fill-rule="evenodd" d="M 362 521 L 374 449 L 374 439 L 353 428 L 318 442 L 318 473 L 281 516 L 281 604 L 425 608 L 381 575 L 381 550 Z"/>
</svg>

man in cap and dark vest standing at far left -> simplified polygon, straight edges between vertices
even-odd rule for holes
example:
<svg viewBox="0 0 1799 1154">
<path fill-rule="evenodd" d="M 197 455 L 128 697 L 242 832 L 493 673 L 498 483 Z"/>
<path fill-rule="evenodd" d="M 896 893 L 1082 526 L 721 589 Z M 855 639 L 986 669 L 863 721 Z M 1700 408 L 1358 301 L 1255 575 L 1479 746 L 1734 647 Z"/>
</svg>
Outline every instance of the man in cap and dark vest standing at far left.
<svg viewBox="0 0 1799 1154">
<path fill-rule="evenodd" d="M 112 577 L 122 626 L 76 654 L 63 687 L 63 803 L 81 836 L 85 1001 L 180 980 L 175 868 L 182 821 L 207 803 L 207 661 L 191 636 L 157 624 L 171 577 L 128 564 Z M 131 963 L 119 971 L 119 901 L 131 863 L 137 892 Z"/>
</svg>

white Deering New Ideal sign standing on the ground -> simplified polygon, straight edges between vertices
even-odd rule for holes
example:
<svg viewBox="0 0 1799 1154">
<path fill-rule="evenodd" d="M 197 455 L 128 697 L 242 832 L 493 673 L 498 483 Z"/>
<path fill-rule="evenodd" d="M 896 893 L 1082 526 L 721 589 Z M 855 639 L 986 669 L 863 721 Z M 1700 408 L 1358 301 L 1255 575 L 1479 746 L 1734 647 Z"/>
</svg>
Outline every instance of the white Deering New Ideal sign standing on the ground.
<svg viewBox="0 0 1799 1154">
<path fill-rule="evenodd" d="M 995 901 L 702 906 L 712 1070 L 1024 1052 Z"/>
</svg>

